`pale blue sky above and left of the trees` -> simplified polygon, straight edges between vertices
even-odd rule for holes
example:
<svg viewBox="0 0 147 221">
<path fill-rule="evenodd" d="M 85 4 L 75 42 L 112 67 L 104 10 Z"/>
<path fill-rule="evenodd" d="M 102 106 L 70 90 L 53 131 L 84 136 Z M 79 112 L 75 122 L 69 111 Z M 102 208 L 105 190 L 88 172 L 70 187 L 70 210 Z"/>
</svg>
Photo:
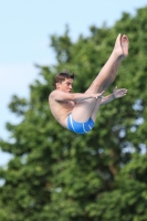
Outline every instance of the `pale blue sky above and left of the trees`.
<svg viewBox="0 0 147 221">
<path fill-rule="evenodd" d="M 147 0 L 0 0 L 0 137 L 9 136 L 6 123 L 17 117 L 8 109 L 11 96 L 28 97 L 29 85 L 39 78 L 34 64 L 52 65 L 50 35 L 63 34 L 65 25 L 76 41 L 91 25 L 112 27 L 123 12 L 135 14 Z M 46 97 L 48 102 L 48 97 Z M 0 151 L 0 166 L 9 155 Z"/>
</svg>

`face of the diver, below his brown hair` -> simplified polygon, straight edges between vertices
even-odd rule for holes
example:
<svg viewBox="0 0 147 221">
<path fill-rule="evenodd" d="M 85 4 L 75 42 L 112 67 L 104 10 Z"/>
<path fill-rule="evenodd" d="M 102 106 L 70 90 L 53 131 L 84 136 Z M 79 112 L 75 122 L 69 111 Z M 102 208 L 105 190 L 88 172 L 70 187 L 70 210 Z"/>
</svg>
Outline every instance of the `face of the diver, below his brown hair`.
<svg viewBox="0 0 147 221">
<path fill-rule="evenodd" d="M 71 93 L 73 88 L 73 80 L 72 78 L 65 78 L 62 83 L 56 83 L 56 90 L 61 90 L 65 93 Z"/>
</svg>

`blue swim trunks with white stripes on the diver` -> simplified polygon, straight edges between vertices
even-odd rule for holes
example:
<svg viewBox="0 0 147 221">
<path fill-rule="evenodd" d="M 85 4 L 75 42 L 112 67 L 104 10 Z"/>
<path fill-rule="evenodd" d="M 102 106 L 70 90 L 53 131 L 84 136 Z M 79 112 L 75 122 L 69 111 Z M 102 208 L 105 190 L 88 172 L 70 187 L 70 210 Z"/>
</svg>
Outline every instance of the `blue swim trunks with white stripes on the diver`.
<svg viewBox="0 0 147 221">
<path fill-rule="evenodd" d="M 90 118 L 85 123 L 78 123 L 72 118 L 71 114 L 69 114 L 67 116 L 67 127 L 71 131 L 74 131 L 76 134 L 86 134 L 93 128 L 93 126 L 94 122 L 92 120 L 92 118 Z"/>
</svg>

